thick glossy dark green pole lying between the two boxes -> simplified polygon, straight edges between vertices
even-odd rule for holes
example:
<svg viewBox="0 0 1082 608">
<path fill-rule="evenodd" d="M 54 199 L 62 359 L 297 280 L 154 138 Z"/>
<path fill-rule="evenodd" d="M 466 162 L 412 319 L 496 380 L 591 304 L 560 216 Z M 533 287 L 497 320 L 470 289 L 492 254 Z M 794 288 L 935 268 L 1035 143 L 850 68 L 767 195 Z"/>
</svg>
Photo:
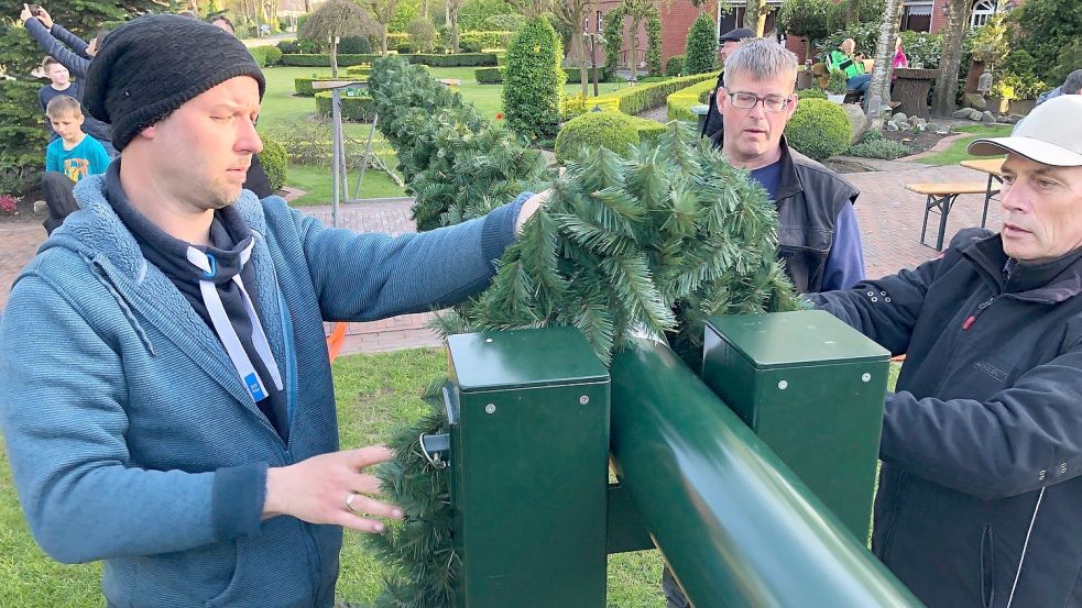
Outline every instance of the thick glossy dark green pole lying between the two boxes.
<svg viewBox="0 0 1082 608">
<path fill-rule="evenodd" d="M 692 605 L 921 605 L 668 347 L 610 373 L 616 476 Z"/>
</svg>

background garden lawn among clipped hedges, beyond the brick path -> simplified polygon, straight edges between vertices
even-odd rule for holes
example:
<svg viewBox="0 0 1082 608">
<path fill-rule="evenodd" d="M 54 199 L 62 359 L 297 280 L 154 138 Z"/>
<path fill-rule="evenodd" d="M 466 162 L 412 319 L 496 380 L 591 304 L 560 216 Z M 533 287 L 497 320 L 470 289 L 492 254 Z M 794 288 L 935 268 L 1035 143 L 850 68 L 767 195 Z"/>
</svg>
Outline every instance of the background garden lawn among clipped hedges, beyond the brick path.
<svg viewBox="0 0 1082 608">
<path fill-rule="evenodd" d="M 496 114 L 503 111 L 501 99 L 502 85 L 478 85 L 473 78 L 472 67 L 438 67 L 429 73 L 436 78 L 457 78 L 462 81 L 456 89 L 463 98 L 473 102 L 481 115 L 496 120 Z M 316 101 L 309 97 L 294 97 L 293 79 L 305 76 L 330 75 L 329 68 L 316 67 L 272 67 L 265 68 L 266 92 L 260 110 L 260 131 L 274 135 L 288 131 L 293 124 L 309 121 L 316 113 Z M 345 69 L 340 71 L 345 76 Z M 599 85 L 601 95 L 626 87 L 625 82 L 602 82 Z M 582 90 L 579 84 L 567 85 L 568 95 L 578 95 Z M 592 92 L 593 86 L 590 86 Z M 346 123 L 343 131 L 347 137 L 364 142 L 368 140 L 369 125 Z M 376 132 L 373 150 L 381 150 L 383 135 Z M 330 148 L 328 142 L 327 148 Z M 389 165 L 394 165 L 393 154 L 385 158 Z M 350 169 L 350 195 L 357 184 L 357 169 Z M 308 194 L 293 201 L 295 206 L 329 204 L 331 201 L 330 165 L 291 165 L 286 185 L 306 190 Z M 369 168 L 364 174 L 364 185 L 360 198 L 383 198 L 405 196 L 405 191 L 392 181 L 386 174 Z"/>
</svg>

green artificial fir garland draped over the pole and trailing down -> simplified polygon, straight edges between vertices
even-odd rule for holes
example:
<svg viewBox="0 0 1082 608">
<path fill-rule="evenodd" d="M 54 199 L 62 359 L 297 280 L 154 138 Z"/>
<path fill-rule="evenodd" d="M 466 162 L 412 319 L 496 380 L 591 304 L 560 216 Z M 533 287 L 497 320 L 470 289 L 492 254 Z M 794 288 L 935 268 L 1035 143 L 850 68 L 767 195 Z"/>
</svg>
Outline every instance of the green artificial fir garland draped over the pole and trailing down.
<svg viewBox="0 0 1082 608">
<path fill-rule="evenodd" d="M 510 200 L 516 185 L 545 176 L 533 151 L 476 119 L 460 100 L 385 89 L 406 79 L 430 90 L 415 69 L 390 62 L 376 64 L 370 84 L 378 104 L 420 98 L 429 104 L 419 111 L 400 108 L 386 123 L 380 110 L 381 128 L 407 158 L 400 162 L 412 164 L 418 207 L 422 192 L 424 204 L 434 206 L 427 218 L 446 202 L 438 208 L 441 222 L 461 221 L 492 201 Z M 431 106 L 434 100 L 447 106 Z M 433 124 L 422 125 L 419 115 Z M 489 170 L 449 169 L 462 166 Z M 526 177 L 516 178 L 523 168 Z M 657 145 L 625 155 L 583 150 L 548 187 L 547 208 L 526 222 L 504 253 L 490 288 L 438 318 L 444 335 L 573 325 L 608 363 L 615 349 L 646 333 L 667 341 L 697 368 L 707 317 L 800 308 L 776 262 L 774 204 L 746 172 L 729 166 L 684 123 L 670 123 Z M 491 191 L 501 198 L 485 196 Z M 459 196 L 466 199 L 456 200 Z M 420 433 L 448 430 L 438 388 L 426 396 L 431 412 L 394 438 L 395 458 L 380 472 L 386 498 L 408 515 L 371 539 L 389 565 L 379 607 L 453 603 L 458 557 L 447 473 L 433 468 L 417 443 Z"/>
</svg>

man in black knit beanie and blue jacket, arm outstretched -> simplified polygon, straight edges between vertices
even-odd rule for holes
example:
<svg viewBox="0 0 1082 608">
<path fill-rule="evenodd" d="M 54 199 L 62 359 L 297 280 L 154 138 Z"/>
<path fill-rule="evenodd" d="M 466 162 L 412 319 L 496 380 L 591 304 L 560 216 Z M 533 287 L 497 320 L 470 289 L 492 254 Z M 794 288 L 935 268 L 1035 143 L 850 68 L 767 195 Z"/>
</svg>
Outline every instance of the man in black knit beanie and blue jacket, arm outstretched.
<svg viewBox="0 0 1082 608">
<path fill-rule="evenodd" d="M 0 429 L 34 538 L 105 561 L 106 604 L 335 604 L 342 528 L 398 508 L 339 451 L 324 321 L 457 302 L 537 209 L 391 237 L 325 229 L 242 190 L 263 75 L 177 15 L 103 41 L 84 101 L 123 152 L 17 278 L 0 320 Z"/>
</svg>

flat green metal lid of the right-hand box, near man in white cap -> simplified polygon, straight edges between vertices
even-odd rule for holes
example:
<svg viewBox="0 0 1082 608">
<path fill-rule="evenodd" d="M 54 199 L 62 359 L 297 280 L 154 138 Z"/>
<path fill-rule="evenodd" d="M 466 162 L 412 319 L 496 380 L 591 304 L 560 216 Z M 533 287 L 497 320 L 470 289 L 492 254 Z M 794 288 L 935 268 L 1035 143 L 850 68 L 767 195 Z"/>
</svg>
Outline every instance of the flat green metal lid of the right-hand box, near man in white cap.
<svg viewBox="0 0 1082 608">
<path fill-rule="evenodd" d="M 759 368 L 883 361 L 890 353 L 824 310 L 711 317 L 718 334 Z"/>
</svg>

